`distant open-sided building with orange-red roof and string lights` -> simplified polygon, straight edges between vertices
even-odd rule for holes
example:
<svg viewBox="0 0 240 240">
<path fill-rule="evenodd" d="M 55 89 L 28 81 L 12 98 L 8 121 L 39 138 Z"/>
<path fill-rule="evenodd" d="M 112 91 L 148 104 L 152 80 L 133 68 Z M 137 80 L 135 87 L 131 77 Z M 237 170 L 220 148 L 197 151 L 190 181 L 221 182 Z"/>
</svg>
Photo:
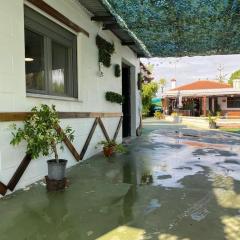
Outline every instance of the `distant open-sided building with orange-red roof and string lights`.
<svg viewBox="0 0 240 240">
<path fill-rule="evenodd" d="M 198 80 L 168 90 L 163 98 L 168 114 L 178 111 L 187 116 L 206 116 L 208 112 L 240 112 L 240 80 L 235 80 L 234 87 L 214 80 Z"/>
</svg>

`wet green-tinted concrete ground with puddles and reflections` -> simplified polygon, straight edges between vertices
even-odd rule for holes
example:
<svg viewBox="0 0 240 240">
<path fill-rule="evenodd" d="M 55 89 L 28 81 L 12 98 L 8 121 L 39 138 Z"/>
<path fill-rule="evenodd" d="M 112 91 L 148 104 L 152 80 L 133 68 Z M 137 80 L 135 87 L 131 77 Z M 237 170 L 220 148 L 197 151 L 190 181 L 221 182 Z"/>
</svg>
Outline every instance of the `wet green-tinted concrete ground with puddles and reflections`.
<svg viewBox="0 0 240 240">
<path fill-rule="evenodd" d="M 240 239 L 240 135 L 154 123 L 126 142 L 71 168 L 64 192 L 1 199 L 0 239 Z"/>
</svg>

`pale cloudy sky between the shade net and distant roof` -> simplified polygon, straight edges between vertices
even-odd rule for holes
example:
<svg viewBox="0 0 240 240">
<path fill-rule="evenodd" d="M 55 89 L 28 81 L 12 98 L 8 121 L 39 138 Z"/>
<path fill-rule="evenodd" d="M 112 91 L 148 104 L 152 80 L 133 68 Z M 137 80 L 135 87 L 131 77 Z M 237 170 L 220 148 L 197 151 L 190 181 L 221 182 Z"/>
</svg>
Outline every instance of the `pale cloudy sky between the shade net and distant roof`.
<svg viewBox="0 0 240 240">
<path fill-rule="evenodd" d="M 181 58 L 143 58 L 144 64 L 153 64 L 153 77 L 155 80 L 165 78 L 166 89 L 171 88 L 170 80 L 176 79 L 176 86 L 201 80 L 216 80 L 219 76 L 219 68 L 225 81 L 231 74 L 240 69 L 240 54 L 195 56 Z"/>
</svg>

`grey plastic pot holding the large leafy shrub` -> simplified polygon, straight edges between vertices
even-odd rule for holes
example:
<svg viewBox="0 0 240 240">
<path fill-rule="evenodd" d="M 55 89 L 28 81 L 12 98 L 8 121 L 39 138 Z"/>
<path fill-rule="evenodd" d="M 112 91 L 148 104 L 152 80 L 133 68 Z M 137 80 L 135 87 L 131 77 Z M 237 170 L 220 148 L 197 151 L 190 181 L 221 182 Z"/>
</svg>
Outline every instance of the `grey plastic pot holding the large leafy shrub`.
<svg viewBox="0 0 240 240">
<path fill-rule="evenodd" d="M 50 180 L 63 180 L 65 178 L 67 160 L 56 159 L 48 160 L 48 178 Z"/>
</svg>

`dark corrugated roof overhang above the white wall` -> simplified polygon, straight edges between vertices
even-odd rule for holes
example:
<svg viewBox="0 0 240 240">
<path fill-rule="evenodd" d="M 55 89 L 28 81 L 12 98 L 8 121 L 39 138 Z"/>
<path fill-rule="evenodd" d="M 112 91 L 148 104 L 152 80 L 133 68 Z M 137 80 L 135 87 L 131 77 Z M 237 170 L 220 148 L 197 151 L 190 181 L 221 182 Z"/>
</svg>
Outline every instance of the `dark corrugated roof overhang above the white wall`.
<svg viewBox="0 0 240 240">
<path fill-rule="evenodd" d="M 146 46 L 128 28 L 125 21 L 111 7 L 107 0 L 78 0 L 82 6 L 92 15 L 92 21 L 103 22 L 103 30 L 110 30 L 122 42 L 128 46 L 137 57 L 150 57 L 151 54 Z"/>
</svg>

